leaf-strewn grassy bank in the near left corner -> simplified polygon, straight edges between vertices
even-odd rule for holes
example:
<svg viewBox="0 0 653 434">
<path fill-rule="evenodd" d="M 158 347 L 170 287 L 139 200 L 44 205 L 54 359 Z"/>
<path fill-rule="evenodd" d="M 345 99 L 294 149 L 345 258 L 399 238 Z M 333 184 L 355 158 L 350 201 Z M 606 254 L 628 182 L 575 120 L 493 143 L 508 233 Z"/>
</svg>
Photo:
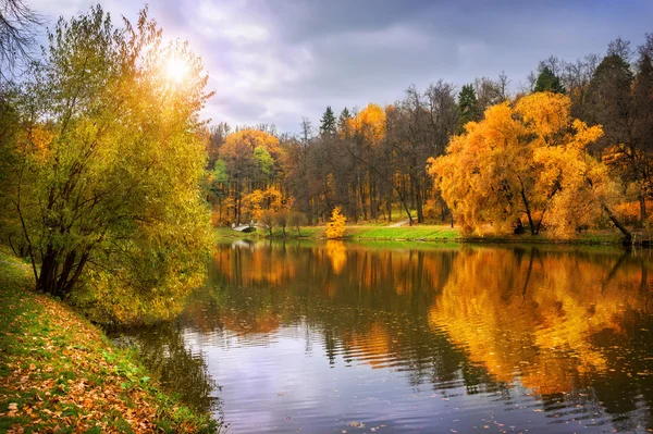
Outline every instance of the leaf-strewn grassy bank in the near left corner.
<svg viewBox="0 0 653 434">
<path fill-rule="evenodd" d="M 0 247 L 0 432 L 217 432 Z"/>
</svg>

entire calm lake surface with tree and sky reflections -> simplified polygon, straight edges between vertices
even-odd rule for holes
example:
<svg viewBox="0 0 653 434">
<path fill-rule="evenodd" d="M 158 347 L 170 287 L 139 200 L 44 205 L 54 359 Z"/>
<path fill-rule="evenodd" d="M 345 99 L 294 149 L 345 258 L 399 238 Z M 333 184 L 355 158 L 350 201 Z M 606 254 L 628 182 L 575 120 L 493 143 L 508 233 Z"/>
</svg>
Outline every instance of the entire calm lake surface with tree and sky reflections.
<svg viewBox="0 0 653 434">
<path fill-rule="evenodd" d="M 644 433 L 650 252 L 234 241 L 123 335 L 230 433 Z"/>
</svg>

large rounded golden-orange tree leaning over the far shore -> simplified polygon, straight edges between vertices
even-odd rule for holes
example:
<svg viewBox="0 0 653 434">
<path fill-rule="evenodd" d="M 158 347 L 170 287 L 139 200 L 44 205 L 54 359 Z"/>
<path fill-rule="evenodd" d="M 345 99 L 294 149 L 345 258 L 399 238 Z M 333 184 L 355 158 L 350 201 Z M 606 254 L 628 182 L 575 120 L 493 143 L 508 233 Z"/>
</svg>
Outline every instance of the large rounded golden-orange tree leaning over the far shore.
<svg viewBox="0 0 653 434">
<path fill-rule="evenodd" d="M 430 159 L 430 173 L 466 232 L 492 223 L 500 231 L 543 226 L 571 236 L 594 224 L 601 212 L 625 234 L 611 204 L 617 184 L 604 164 L 586 154 L 603 131 L 570 114 L 569 98 L 535 92 L 485 111 L 465 125 L 447 153 Z"/>
</svg>

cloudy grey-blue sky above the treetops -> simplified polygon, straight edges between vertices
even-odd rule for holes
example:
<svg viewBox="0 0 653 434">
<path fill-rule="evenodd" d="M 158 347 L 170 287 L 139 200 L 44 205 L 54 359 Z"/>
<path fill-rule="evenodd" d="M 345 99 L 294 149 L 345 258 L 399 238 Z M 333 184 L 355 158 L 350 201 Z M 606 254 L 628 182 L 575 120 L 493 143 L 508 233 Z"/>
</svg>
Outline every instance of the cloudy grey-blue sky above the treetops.
<svg viewBox="0 0 653 434">
<path fill-rule="evenodd" d="M 50 18 L 99 1 L 135 20 L 134 0 L 32 0 Z M 502 71 L 517 89 L 540 60 L 605 52 L 617 36 L 653 32 L 651 0 L 149 0 L 168 38 L 201 55 L 215 96 L 214 123 L 317 125 L 326 106 L 391 103 L 411 84 L 458 88 Z M 115 21 L 118 22 L 118 21 Z"/>
</svg>

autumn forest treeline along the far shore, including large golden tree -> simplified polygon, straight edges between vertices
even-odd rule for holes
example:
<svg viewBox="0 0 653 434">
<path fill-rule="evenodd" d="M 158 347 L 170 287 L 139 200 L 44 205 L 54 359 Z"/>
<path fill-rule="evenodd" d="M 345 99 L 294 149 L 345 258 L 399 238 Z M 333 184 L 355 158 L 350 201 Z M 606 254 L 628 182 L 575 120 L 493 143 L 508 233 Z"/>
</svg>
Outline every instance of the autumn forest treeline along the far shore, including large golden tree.
<svg viewBox="0 0 653 434">
<path fill-rule="evenodd" d="M 220 123 L 208 141 L 213 222 L 295 210 L 315 223 L 340 207 L 348 222 L 558 236 L 616 224 L 628 237 L 652 206 L 652 55 L 653 35 L 618 38 L 605 55 L 542 61 L 515 95 L 505 74 L 460 89 L 438 80 L 385 107 L 328 107 L 296 135 Z"/>
</svg>

